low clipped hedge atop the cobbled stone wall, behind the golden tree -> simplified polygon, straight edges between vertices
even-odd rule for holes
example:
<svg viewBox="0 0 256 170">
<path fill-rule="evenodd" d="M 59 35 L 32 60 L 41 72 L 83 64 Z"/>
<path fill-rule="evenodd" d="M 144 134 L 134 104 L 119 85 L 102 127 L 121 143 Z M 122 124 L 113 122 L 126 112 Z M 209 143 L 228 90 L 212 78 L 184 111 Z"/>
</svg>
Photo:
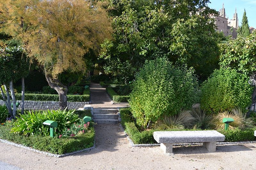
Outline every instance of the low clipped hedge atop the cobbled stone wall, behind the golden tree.
<svg viewBox="0 0 256 170">
<path fill-rule="evenodd" d="M 16 100 L 21 100 L 21 94 L 15 94 Z M 84 102 L 89 101 L 90 95 L 67 95 L 70 102 Z M 2 96 L 0 99 L 3 100 Z M 25 94 L 25 100 L 27 101 L 59 101 L 58 94 Z"/>
</svg>

